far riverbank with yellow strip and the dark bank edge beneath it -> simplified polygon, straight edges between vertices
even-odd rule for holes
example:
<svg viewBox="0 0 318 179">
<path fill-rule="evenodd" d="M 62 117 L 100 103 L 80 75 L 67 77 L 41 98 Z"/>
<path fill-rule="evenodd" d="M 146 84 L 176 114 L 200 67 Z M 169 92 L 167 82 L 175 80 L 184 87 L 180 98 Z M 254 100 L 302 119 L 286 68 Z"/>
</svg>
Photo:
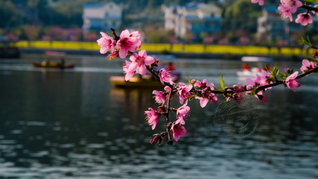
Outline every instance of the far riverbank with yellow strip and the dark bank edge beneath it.
<svg viewBox="0 0 318 179">
<path fill-rule="evenodd" d="M 19 41 L 13 44 L 23 54 L 42 54 L 45 51 L 65 52 L 68 55 L 99 55 L 96 42 Z M 275 60 L 301 60 L 313 50 L 296 47 L 224 46 L 204 44 L 142 44 L 147 54 L 172 54 L 177 58 L 241 59 L 243 56 L 271 57 Z"/>
</svg>

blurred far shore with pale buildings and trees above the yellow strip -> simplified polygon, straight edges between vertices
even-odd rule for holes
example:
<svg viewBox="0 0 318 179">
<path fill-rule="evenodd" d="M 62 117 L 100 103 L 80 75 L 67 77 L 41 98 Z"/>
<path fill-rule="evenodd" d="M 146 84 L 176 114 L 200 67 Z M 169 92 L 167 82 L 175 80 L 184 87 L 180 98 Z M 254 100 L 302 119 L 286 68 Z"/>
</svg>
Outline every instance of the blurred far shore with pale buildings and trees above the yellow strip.
<svg viewBox="0 0 318 179">
<path fill-rule="evenodd" d="M 145 43 L 297 46 L 306 35 L 317 42 L 316 16 L 303 27 L 282 19 L 278 4 L 279 0 L 264 6 L 250 0 L 0 0 L 0 40 L 93 42 L 100 31 L 112 27 L 118 33 L 138 30 Z"/>
</svg>

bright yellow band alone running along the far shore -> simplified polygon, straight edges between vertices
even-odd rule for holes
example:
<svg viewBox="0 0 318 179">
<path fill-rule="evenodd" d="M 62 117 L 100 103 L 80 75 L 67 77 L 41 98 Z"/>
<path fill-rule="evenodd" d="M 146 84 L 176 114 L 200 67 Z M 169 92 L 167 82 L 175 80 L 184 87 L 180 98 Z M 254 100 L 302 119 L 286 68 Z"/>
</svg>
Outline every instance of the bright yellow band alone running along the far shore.
<svg viewBox="0 0 318 179">
<path fill-rule="evenodd" d="M 68 42 L 68 41 L 19 41 L 15 43 L 19 48 L 36 48 L 48 50 L 91 50 L 99 51 L 97 42 Z M 207 53 L 207 54 L 242 54 L 242 55 L 302 55 L 313 53 L 312 50 L 283 47 L 262 47 L 262 46 L 223 46 L 223 45 L 202 45 L 202 44 L 145 44 L 140 49 L 148 52 L 168 51 L 173 53 Z"/>
</svg>

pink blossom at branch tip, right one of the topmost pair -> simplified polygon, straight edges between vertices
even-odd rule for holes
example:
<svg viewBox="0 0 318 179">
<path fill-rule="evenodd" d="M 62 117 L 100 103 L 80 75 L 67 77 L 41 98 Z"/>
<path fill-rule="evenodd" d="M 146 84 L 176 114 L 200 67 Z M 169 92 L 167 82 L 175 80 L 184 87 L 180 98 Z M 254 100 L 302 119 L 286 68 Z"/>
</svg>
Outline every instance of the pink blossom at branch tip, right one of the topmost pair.
<svg viewBox="0 0 318 179">
<path fill-rule="evenodd" d="M 117 47 L 119 50 L 119 57 L 124 59 L 127 57 L 127 53 L 136 52 L 136 49 L 140 48 L 141 43 L 139 43 L 139 32 L 135 31 L 129 34 L 129 31 L 126 29 L 120 35 L 120 40 L 117 42 Z"/>
</svg>

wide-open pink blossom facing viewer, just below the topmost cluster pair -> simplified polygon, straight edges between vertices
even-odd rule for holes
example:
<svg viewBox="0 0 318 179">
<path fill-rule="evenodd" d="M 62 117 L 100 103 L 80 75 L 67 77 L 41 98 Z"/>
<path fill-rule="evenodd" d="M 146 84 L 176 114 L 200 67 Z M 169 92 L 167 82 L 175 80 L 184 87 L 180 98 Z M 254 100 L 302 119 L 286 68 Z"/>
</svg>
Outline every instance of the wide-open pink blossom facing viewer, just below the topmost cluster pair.
<svg viewBox="0 0 318 179">
<path fill-rule="evenodd" d="M 135 71 L 138 69 L 138 72 L 141 75 L 146 74 L 147 69 L 145 65 L 149 65 L 155 61 L 154 58 L 147 56 L 145 50 L 138 52 L 138 55 L 133 53 L 129 59 L 132 61 L 128 67 L 129 71 Z"/>
</svg>

